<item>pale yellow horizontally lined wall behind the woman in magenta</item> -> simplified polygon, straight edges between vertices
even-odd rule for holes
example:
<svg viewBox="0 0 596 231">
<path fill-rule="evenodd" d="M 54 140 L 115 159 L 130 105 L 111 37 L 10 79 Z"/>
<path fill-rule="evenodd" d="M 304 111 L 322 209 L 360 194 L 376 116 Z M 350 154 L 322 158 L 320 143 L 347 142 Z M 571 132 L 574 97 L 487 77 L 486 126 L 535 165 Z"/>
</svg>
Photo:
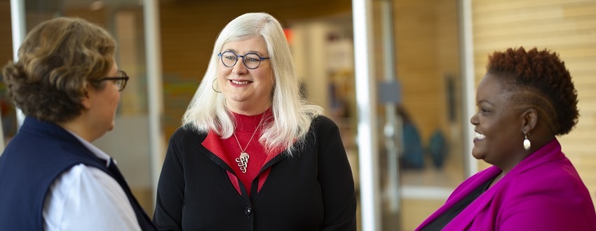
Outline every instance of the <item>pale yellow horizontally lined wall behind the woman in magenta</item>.
<svg viewBox="0 0 596 231">
<path fill-rule="evenodd" d="M 472 17 L 476 84 L 494 50 L 524 46 L 559 53 L 578 90 L 580 118 L 558 139 L 596 200 L 596 1 L 474 0 Z"/>
</svg>

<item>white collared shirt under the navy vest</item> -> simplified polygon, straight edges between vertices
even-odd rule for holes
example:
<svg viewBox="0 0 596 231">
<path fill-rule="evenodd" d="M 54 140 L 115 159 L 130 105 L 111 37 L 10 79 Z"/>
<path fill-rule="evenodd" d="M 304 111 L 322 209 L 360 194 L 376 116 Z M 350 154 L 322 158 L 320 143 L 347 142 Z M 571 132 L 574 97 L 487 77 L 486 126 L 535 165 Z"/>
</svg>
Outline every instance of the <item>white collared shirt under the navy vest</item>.
<svg viewBox="0 0 596 231">
<path fill-rule="evenodd" d="M 97 158 L 109 163 L 109 155 L 74 132 L 70 133 Z M 141 230 L 135 211 L 120 184 L 102 170 L 83 164 L 74 165 L 50 186 L 43 204 L 43 228 Z"/>
</svg>

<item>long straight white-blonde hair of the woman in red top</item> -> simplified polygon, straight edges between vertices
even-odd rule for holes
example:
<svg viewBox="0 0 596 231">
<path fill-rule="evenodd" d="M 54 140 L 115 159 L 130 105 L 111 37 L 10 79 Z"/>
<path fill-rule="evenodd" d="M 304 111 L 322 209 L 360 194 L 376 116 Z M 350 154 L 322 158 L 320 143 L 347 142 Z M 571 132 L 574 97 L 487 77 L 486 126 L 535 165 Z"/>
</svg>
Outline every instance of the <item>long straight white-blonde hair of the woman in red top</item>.
<svg viewBox="0 0 596 231">
<path fill-rule="evenodd" d="M 269 52 L 269 61 L 273 67 L 273 91 L 271 92 L 271 111 L 273 123 L 265 125 L 259 142 L 266 151 L 283 147 L 288 155 L 304 144 L 306 134 L 313 118 L 323 113 L 320 106 L 308 104 L 299 94 L 299 80 L 294 60 L 287 44 L 283 29 L 273 16 L 267 13 L 246 13 L 231 20 L 219 32 L 213 46 L 209 66 L 198 86 L 182 124 L 189 125 L 198 132 L 213 130 L 224 139 L 231 137 L 234 120 L 226 109 L 223 93 L 212 88 L 217 78 L 217 65 L 224 44 L 242 41 L 255 36 L 262 36 Z M 297 144 L 297 145 L 294 145 Z"/>
</svg>

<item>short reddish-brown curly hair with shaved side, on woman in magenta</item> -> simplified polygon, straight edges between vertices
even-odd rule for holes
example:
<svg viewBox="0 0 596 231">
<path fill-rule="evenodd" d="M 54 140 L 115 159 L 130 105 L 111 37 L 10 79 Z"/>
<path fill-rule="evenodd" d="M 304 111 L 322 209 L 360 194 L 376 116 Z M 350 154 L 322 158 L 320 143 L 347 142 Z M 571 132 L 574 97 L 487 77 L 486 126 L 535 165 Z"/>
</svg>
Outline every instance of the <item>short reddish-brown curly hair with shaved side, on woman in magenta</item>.
<svg viewBox="0 0 596 231">
<path fill-rule="evenodd" d="M 513 102 L 532 106 L 555 135 L 571 132 L 578 122 L 577 90 L 556 52 L 509 48 L 489 56 L 487 72 L 506 80 Z"/>
</svg>

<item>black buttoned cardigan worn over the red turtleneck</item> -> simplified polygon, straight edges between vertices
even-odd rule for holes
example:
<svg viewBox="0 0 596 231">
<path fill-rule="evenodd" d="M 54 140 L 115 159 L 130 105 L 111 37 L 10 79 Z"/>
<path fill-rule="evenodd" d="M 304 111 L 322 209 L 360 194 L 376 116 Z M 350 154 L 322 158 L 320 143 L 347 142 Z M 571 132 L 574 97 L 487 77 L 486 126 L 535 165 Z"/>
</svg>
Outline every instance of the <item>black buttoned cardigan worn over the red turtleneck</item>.
<svg viewBox="0 0 596 231">
<path fill-rule="evenodd" d="M 266 162 L 271 172 L 250 198 L 234 171 L 201 145 L 206 134 L 180 127 L 170 138 L 157 188 L 160 230 L 356 230 L 351 168 L 332 120 L 313 120 L 306 145 Z"/>
</svg>

